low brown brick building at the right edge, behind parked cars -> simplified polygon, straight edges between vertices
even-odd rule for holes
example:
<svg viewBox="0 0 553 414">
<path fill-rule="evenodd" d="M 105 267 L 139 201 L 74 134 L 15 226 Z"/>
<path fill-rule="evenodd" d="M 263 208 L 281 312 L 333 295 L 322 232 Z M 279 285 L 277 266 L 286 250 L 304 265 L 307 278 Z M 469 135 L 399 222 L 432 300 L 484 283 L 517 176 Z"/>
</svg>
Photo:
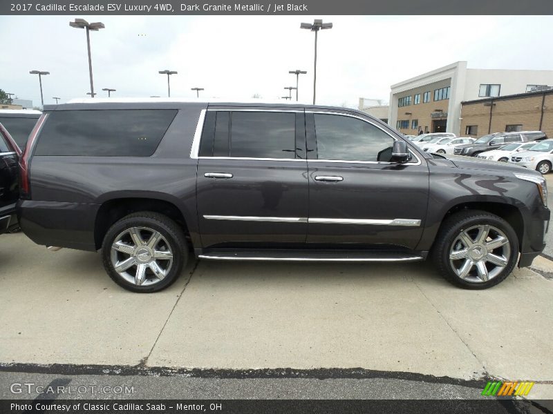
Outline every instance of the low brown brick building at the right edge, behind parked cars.
<svg viewBox="0 0 553 414">
<path fill-rule="evenodd" d="M 461 133 L 541 130 L 553 137 L 553 90 L 527 92 L 461 103 Z"/>
</svg>

